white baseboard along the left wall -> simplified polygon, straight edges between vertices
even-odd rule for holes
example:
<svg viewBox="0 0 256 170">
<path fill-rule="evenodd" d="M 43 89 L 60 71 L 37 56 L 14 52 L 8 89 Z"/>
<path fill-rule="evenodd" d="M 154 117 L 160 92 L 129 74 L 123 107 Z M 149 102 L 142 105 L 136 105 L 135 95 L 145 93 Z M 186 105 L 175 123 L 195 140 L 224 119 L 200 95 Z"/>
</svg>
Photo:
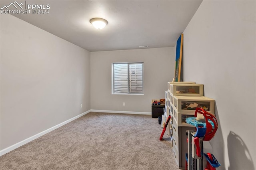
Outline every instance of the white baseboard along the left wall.
<svg viewBox="0 0 256 170">
<path fill-rule="evenodd" d="M 60 123 L 60 124 L 58 124 L 58 125 L 56 125 L 56 126 L 54 126 L 54 127 L 48 128 L 47 130 L 44 130 L 44 131 L 42 131 L 42 132 L 40 132 L 40 133 L 38 133 L 38 134 L 35 134 L 34 136 L 31 136 L 31 137 L 29 137 L 29 138 L 26 138 L 25 140 L 22 140 L 22 141 L 20 141 L 20 142 L 14 144 L 14 145 L 12 145 L 12 146 L 9 146 L 8 148 L 4 148 L 3 150 L 0 150 L 0 156 L 6 154 L 6 153 L 8 153 L 8 152 L 10 152 L 10 151 L 12 151 L 12 150 L 14 150 L 14 149 L 16 149 L 16 148 L 18 148 L 18 147 L 24 145 L 24 144 L 26 144 L 26 143 L 32 141 L 32 140 L 35 140 L 36 138 L 39 138 L 40 136 L 43 136 L 44 134 L 46 134 L 46 133 L 48 133 L 48 132 L 50 132 L 50 131 L 52 131 L 52 130 L 55 130 L 56 128 L 59 128 L 59 127 L 61 127 L 61 126 L 63 126 L 63 125 L 66 125 L 67 123 L 70 123 L 71 121 L 74 121 L 75 119 L 77 119 L 77 118 L 79 118 L 79 117 L 81 117 L 81 116 L 83 116 L 83 115 L 86 115 L 87 113 L 90 113 L 90 112 L 91 112 L 91 110 L 86 111 L 86 112 L 84 112 L 84 113 L 81 113 L 80 115 L 77 115 L 76 117 L 73 117 L 73 118 L 71 118 L 71 119 L 68 119 L 67 121 L 64 121 L 64 122 L 62 122 L 62 123 Z"/>
</svg>

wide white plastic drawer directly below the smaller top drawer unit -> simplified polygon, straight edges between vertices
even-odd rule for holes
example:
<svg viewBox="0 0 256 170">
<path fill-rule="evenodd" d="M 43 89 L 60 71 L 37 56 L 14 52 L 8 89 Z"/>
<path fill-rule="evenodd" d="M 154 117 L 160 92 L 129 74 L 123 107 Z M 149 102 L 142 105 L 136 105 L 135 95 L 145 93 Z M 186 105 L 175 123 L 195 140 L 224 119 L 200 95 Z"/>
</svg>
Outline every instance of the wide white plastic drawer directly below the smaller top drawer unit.
<svg viewBox="0 0 256 170">
<path fill-rule="evenodd" d="M 173 96 L 173 106 L 180 113 L 195 113 L 197 107 L 214 114 L 215 100 L 205 96 Z"/>
</svg>

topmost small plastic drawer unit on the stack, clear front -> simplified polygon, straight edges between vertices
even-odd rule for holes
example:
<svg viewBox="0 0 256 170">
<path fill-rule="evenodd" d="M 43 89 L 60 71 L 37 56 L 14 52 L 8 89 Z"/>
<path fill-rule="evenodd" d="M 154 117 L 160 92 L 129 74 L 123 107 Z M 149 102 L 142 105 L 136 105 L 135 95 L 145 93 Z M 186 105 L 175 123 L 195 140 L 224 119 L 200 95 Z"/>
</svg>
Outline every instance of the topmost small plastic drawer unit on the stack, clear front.
<svg viewBox="0 0 256 170">
<path fill-rule="evenodd" d="M 202 84 L 170 84 L 170 93 L 178 96 L 203 96 Z"/>
</svg>

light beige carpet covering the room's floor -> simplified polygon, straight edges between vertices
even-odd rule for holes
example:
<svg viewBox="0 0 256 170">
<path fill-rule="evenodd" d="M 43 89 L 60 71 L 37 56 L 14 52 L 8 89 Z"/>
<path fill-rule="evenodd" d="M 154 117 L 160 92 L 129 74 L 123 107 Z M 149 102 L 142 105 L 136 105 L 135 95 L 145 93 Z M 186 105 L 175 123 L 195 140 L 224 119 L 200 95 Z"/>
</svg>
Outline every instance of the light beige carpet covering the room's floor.
<svg viewBox="0 0 256 170">
<path fill-rule="evenodd" d="M 0 169 L 178 170 L 161 132 L 151 115 L 91 112 L 1 156 Z"/>
</svg>

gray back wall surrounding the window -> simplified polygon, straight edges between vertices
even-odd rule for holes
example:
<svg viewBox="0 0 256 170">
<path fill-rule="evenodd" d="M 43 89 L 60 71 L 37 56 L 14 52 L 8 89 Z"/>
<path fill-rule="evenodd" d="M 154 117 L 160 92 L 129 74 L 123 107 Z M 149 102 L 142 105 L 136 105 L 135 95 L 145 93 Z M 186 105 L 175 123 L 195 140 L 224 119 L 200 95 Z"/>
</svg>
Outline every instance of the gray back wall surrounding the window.
<svg viewBox="0 0 256 170">
<path fill-rule="evenodd" d="M 137 61 L 144 62 L 144 95 L 112 95 L 112 63 Z M 151 112 L 151 100 L 164 99 L 174 69 L 174 47 L 92 52 L 91 109 Z"/>
</svg>

